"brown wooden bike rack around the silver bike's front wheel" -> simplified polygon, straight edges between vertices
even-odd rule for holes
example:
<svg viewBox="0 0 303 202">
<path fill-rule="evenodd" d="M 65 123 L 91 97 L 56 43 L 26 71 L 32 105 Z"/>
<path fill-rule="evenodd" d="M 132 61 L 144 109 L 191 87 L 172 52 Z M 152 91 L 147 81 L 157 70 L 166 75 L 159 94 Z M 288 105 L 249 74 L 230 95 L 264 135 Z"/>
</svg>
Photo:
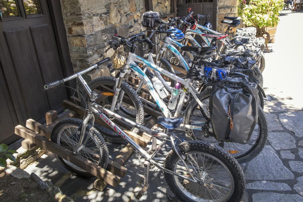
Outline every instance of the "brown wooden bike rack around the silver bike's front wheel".
<svg viewBox="0 0 303 202">
<path fill-rule="evenodd" d="M 71 102 L 74 100 L 76 103 Z M 65 113 L 63 116 L 58 118 L 56 111 L 48 111 L 45 114 L 46 125 L 42 125 L 32 119 L 28 119 L 26 121 L 26 127 L 21 125 L 15 127 L 15 134 L 25 139 L 22 141 L 22 147 L 24 149 L 31 150 L 33 147 L 38 145 L 39 147 L 45 148 L 46 150 L 58 155 L 63 159 L 66 159 L 67 161 L 96 176 L 97 180 L 95 180 L 93 186 L 95 189 L 103 191 L 108 184 L 112 185 L 113 187 L 117 187 L 121 177 L 124 177 L 127 171 L 127 168 L 123 167 L 123 165 L 126 161 L 128 161 L 134 152 L 130 144 L 127 144 L 124 148 L 122 148 L 117 157 L 110 159 L 108 162 L 108 167 L 104 169 L 92 161 L 89 161 L 79 155 L 74 155 L 72 151 L 50 140 L 52 130 L 58 122 L 66 118 L 78 118 L 84 115 L 85 109 L 77 104 L 77 102 L 79 103 L 79 100 L 71 99 L 71 101 L 64 100 L 62 104 L 65 108 L 71 110 L 70 112 Z M 151 117 L 145 126 L 148 128 L 153 127 L 156 120 L 157 119 L 155 117 Z M 108 127 L 107 124 L 104 124 L 104 122 L 98 117 L 96 117 L 95 122 Z M 146 147 L 151 140 L 151 136 L 146 133 L 135 134 L 125 128 L 122 128 L 122 130 L 142 147 Z"/>
</svg>

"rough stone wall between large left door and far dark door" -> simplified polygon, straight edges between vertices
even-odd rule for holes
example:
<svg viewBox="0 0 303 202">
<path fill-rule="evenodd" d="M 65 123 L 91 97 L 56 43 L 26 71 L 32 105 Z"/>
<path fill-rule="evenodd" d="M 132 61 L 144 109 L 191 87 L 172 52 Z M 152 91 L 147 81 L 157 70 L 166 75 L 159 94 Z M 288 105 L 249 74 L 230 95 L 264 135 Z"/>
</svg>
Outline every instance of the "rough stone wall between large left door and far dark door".
<svg viewBox="0 0 303 202">
<path fill-rule="evenodd" d="M 79 71 L 102 58 L 111 57 L 114 51 L 107 41 L 114 30 L 128 36 L 145 30 L 141 17 L 145 12 L 145 0 L 60 0 L 66 28 L 69 51 L 74 71 Z M 170 0 L 154 0 L 153 9 L 170 12 Z M 109 75 L 107 65 L 90 75 L 89 79 Z"/>
</svg>

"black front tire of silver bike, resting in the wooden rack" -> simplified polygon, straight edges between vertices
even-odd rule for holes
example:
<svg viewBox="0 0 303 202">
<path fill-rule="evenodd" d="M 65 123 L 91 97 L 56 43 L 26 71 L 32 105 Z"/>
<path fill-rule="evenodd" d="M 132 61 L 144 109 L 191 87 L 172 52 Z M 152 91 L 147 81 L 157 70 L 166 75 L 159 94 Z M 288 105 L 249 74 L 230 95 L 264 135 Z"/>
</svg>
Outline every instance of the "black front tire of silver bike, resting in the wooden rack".
<svg viewBox="0 0 303 202">
<path fill-rule="evenodd" d="M 67 126 L 75 126 L 75 127 L 80 127 L 80 125 L 82 124 L 82 120 L 77 119 L 77 118 L 68 118 L 65 119 L 63 121 L 60 121 L 58 124 L 55 125 L 52 134 L 51 134 L 51 140 L 57 144 L 58 143 L 58 135 L 60 133 L 60 131 L 62 131 L 62 129 L 64 127 Z M 96 130 L 96 128 L 92 127 L 91 124 L 88 124 L 86 127 L 86 132 L 90 135 L 93 136 L 92 140 L 96 141 L 95 144 L 99 144 L 100 145 L 100 151 L 99 151 L 99 156 L 101 156 L 98 165 L 106 168 L 108 165 L 108 161 L 109 161 L 109 153 L 108 153 L 108 147 L 105 144 L 105 141 L 102 137 L 102 135 L 99 133 L 98 130 Z M 60 134 L 61 135 L 61 134 Z M 59 137 L 60 138 L 60 137 Z M 65 147 L 66 148 L 66 147 Z M 68 148 L 67 148 L 68 149 Z M 82 177 L 82 178 L 90 178 L 90 177 L 95 177 L 94 175 L 86 172 L 86 171 L 81 171 L 79 169 L 76 169 L 74 167 L 72 167 L 70 164 L 67 163 L 66 160 L 64 160 L 63 158 L 59 157 L 58 155 L 56 155 L 58 161 L 71 173 L 73 173 L 74 175 L 78 176 L 78 177 Z M 84 156 L 82 156 L 84 157 Z M 92 161 L 92 159 L 88 159 L 90 161 Z"/>
</svg>

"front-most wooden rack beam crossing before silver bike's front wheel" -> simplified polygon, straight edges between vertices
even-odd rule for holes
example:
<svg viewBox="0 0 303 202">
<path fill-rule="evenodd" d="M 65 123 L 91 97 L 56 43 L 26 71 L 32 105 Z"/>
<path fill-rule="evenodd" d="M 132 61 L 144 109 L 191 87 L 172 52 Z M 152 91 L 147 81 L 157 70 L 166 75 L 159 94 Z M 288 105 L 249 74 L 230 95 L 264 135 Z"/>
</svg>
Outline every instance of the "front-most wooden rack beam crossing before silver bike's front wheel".
<svg viewBox="0 0 303 202">
<path fill-rule="evenodd" d="M 91 173 L 92 175 L 101 178 L 106 183 L 117 187 L 120 182 L 120 177 L 115 174 L 106 171 L 101 166 L 96 165 L 92 161 L 88 161 L 87 159 L 81 157 L 80 155 L 75 155 L 72 151 L 56 144 L 48 140 L 47 138 L 34 133 L 33 131 L 18 125 L 15 127 L 15 134 L 32 141 L 34 144 L 37 144 L 39 147 L 43 147 L 46 150 L 58 155 L 59 157 L 75 164 L 76 166 L 84 169 L 85 171 Z"/>
</svg>

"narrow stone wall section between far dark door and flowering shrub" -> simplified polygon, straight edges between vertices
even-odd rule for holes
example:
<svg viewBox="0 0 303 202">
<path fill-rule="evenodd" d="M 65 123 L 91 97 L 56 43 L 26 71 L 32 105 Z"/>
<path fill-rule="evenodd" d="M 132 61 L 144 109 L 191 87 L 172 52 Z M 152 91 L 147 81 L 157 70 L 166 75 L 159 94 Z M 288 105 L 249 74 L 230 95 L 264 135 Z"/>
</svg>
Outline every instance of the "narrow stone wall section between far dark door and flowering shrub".
<svg viewBox="0 0 303 202">
<path fill-rule="evenodd" d="M 239 0 L 218 0 L 218 12 L 217 12 L 217 31 L 224 33 L 227 29 L 226 24 L 222 24 L 221 21 L 224 16 L 238 16 Z"/>
</svg>

